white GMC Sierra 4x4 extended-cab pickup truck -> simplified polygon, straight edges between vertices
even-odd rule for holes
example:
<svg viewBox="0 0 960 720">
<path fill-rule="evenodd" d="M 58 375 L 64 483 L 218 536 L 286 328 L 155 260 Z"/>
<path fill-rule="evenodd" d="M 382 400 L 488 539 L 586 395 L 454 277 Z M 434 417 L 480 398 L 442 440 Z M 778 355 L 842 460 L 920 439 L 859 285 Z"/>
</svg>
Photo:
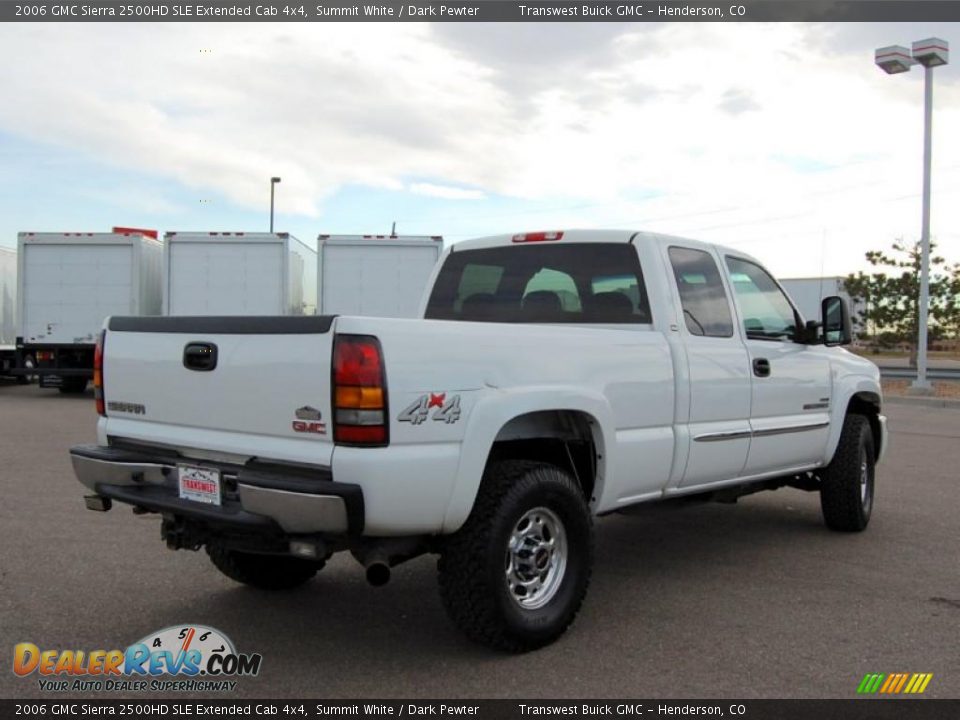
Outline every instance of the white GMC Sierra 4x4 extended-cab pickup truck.
<svg viewBox="0 0 960 720">
<path fill-rule="evenodd" d="M 739 250 L 609 230 L 459 243 L 431 284 L 415 320 L 109 318 L 87 507 L 259 588 L 436 553 L 454 622 L 511 651 L 573 621 L 594 516 L 790 486 L 866 527 L 886 421 L 840 298 L 804 322 Z"/>
</svg>

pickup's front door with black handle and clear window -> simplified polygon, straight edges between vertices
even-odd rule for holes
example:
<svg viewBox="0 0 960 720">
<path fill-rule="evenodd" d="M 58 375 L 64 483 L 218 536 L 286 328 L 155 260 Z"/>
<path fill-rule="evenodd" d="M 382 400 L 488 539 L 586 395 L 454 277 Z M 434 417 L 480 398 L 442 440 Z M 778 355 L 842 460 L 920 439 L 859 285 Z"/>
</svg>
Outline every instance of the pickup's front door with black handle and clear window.
<svg viewBox="0 0 960 720">
<path fill-rule="evenodd" d="M 802 318 L 773 277 L 728 255 L 730 285 L 750 357 L 752 439 L 745 475 L 810 466 L 823 459 L 830 431 L 830 363 L 798 343 Z"/>
</svg>

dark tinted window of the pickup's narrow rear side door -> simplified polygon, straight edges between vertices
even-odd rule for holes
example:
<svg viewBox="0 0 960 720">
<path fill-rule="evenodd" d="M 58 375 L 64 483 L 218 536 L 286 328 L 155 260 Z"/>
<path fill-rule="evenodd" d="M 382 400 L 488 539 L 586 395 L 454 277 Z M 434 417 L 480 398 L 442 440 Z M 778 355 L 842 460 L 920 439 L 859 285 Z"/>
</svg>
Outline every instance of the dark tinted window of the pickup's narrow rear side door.
<svg viewBox="0 0 960 720">
<path fill-rule="evenodd" d="M 690 334 L 733 337 L 730 304 L 713 257 L 703 250 L 681 247 L 670 248 L 669 255 Z"/>
</svg>

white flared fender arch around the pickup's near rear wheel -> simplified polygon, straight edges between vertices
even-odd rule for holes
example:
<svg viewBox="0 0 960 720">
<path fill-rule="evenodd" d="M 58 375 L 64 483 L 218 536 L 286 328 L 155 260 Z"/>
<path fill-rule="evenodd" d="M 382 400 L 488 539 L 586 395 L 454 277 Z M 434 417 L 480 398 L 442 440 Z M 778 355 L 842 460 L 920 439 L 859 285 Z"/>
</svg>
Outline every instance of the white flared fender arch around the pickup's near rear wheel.
<svg viewBox="0 0 960 720">
<path fill-rule="evenodd" d="M 603 395 L 567 387 L 520 390 L 490 388 L 483 391 L 477 400 L 465 428 L 460 463 L 443 519 L 443 533 L 456 532 L 470 515 L 487 459 L 500 430 L 521 415 L 560 410 L 582 412 L 591 419 L 594 442 L 600 457 L 594 494 L 600 497 L 603 468 L 610 463 L 607 453 L 614 451 L 614 444 L 610 443 L 608 447 L 604 439 L 615 437 L 613 411 Z"/>
</svg>

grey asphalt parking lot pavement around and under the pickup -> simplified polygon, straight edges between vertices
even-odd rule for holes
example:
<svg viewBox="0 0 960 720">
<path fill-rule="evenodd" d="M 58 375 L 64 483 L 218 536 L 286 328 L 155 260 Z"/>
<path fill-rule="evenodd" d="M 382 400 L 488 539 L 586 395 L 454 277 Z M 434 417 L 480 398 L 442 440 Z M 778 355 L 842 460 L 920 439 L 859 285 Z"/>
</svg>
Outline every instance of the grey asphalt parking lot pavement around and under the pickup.
<svg viewBox="0 0 960 720">
<path fill-rule="evenodd" d="M 867 672 L 933 673 L 927 696 L 960 697 L 960 412 L 888 414 L 865 533 L 827 531 L 797 490 L 603 518 L 577 622 L 507 656 L 448 622 L 433 558 L 371 588 L 340 555 L 270 594 L 167 550 L 156 517 L 85 510 L 66 451 L 95 439 L 91 396 L 0 385 L 0 697 L 40 694 L 10 670 L 17 642 L 124 648 L 189 622 L 263 655 L 247 697 L 849 698 Z"/>
</svg>

